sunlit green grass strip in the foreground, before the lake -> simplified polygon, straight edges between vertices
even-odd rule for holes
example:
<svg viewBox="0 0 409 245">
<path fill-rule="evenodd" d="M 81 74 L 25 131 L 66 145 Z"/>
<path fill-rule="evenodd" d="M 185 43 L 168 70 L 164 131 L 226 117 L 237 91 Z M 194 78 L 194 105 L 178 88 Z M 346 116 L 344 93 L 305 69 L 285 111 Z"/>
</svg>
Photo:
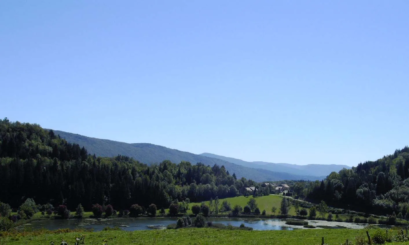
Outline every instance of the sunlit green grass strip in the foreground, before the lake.
<svg viewBox="0 0 409 245">
<path fill-rule="evenodd" d="M 0 244 L 50 244 L 54 240 L 59 244 L 61 238 L 73 244 L 75 237 L 85 234 L 85 244 L 101 245 L 104 240 L 108 245 L 124 244 L 292 244 L 314 245 L 321 244 L 324 237 L 328 245 L 339 245 L 348 239 L 355 244 L 356 236 L 366 237 L 366 229 L 314 229 L 293 231 L 243 231 L 220 230 L 213 228 L 185 228 L 177 230 L 145 230 L 135 232 L 102 231 L 102 232 L 23 232 L 21 234 L 8 234 L 0 236 Z M 369 230 L 370 234 L 374 230 Z M 388 243 L 393 245 L 407 243 Z"/>
</svg>

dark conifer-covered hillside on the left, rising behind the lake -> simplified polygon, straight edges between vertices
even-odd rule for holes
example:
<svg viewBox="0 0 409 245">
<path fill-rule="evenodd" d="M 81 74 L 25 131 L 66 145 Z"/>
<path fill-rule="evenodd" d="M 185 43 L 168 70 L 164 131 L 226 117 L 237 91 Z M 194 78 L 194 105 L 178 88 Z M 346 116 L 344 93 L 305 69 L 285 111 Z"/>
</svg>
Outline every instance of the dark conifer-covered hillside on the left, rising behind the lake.
<svg viewBox="0 0 409 245">
<path fill-rule="evenodd" d="M 223 166 L 164 161 L 148 166 L 130 157 L 96 157 L 84 147 L 58 137 L 37 124 L 0 120 L 0 202 L 18 207 L 27 198 L 36 203 L 132 204 L 169 207 L 175 200 L 202 201 L 234 197 L 243 187 Z"/>
</svg>

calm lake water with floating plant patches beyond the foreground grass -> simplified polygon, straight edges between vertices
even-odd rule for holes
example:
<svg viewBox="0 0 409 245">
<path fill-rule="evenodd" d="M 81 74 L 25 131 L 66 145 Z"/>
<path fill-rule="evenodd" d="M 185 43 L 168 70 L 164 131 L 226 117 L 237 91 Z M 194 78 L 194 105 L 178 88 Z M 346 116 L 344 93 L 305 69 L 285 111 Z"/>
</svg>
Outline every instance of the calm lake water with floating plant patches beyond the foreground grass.
<svg viewBox="0 0 409 245">
<path fill-rule="evenodd" d="M 22 225 L 18 228 L 24 229 L 25 227 L 31 229 L 94 229 L 94 231 L 100 231 L 104 227 L 115 227 L 125 231 L 136 231 L 152 229 L 152 226 L 166 227 L 169 224 L 174 224 L 178 218 L 159 217 L 159 218 L 101 218 L 101 219 L 51 219 L 51 220 L 38 220 L 29 224 Z M 207 221 L 213 223 L 222 223 L 224 225 L 240 226 L 244 223 L 247 227 L 252 227 L 254 230 L 293 230 L 303 229 L 302 226 L 286 225 L 283 219 L 260 219 L 260 218 L 231 218 L 231 217 L 217 217 L 207 218 Z M 308 220 L 308 224 L 315 225 L 318 228 L 352 228 L 362 229 L 365 224 L 355 223 L 343 223 L 343 222 L 328 222 L 324 220 Z"/>
</svg>

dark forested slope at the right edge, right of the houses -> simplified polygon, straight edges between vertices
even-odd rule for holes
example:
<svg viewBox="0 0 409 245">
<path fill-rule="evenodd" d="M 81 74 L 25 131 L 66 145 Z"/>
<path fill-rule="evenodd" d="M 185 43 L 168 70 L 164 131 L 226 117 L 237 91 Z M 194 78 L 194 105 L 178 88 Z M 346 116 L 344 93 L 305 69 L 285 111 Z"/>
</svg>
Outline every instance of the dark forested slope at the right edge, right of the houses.
<svg viewBox="0 0 409 245">
<path fill-rule="evenodd" d="M 308 198 L 338 207 L 405 216 L 409 214 L 409 148 L 333 172 L 315 182 Z"/>
</svg>

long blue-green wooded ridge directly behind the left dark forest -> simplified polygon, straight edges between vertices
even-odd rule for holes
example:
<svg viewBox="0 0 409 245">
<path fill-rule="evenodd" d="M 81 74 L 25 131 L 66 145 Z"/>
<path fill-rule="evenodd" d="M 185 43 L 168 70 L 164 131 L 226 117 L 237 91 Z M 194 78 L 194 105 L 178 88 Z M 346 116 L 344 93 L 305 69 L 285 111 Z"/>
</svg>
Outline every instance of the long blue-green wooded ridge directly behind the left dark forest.
<svg viewBox="0 0 409 245">
<path fill-rule="evenodd" d="M 219 166 L 225 166 L 230 173 L 236 173 L 238 178 L 245 177 L 257 182 L 276 180 L 322 180 L 330 173 L 328 172 L 324 176 L 285 173 L 281 171 L 241 166 L 225 160 L 196 155 L 185 151 L 178 151 L 154 144 L 128 144 L 108 139 L 91 138 L 58 130 L 54 130 L 54 133 L 56 135 L 60 135 L 68 142 L 85 146 L 89 153 L 97 156 L 113 157 L 116 155 L 126 155 L 146 164 L 159 163 L 164 160 L 169 160 L 176 163 L 187 161 L 191 162 L 192 164 L 201 162 L 202 164 L 209 166 L 217 164 Z"/>
</svg>

